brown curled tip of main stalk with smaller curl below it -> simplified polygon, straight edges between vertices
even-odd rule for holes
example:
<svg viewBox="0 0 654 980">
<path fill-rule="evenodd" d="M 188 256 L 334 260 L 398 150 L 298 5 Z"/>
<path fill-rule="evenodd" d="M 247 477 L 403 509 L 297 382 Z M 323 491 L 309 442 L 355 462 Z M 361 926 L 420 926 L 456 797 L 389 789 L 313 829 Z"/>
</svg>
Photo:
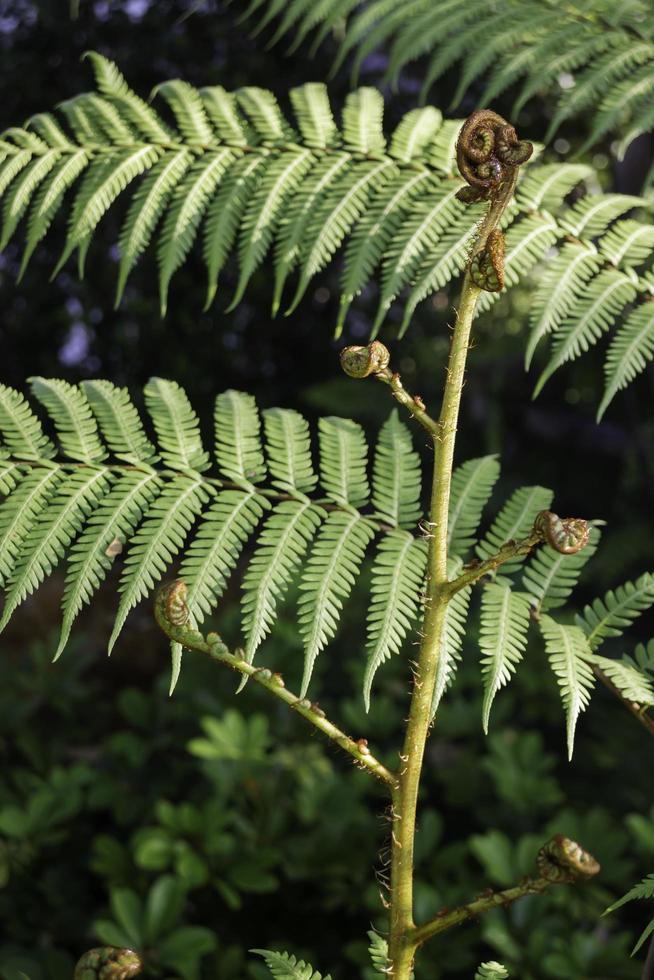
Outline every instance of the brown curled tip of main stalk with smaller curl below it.
<svg viewBox="0 0 654 980">
<path fill-rule="evenodd" d="M 519 140 L 513 126 L 491 109 L 473 112 L 459 133 L 456 160 L 467 186 L 456 196 L 465 204 L 491 202 L 468 264 L 472 282 L 488 292 L 504 288 L 504 235 L 497 224 L 513 193 L 518 167 L 533 150 L 531 143 Z"/>
</svg>

